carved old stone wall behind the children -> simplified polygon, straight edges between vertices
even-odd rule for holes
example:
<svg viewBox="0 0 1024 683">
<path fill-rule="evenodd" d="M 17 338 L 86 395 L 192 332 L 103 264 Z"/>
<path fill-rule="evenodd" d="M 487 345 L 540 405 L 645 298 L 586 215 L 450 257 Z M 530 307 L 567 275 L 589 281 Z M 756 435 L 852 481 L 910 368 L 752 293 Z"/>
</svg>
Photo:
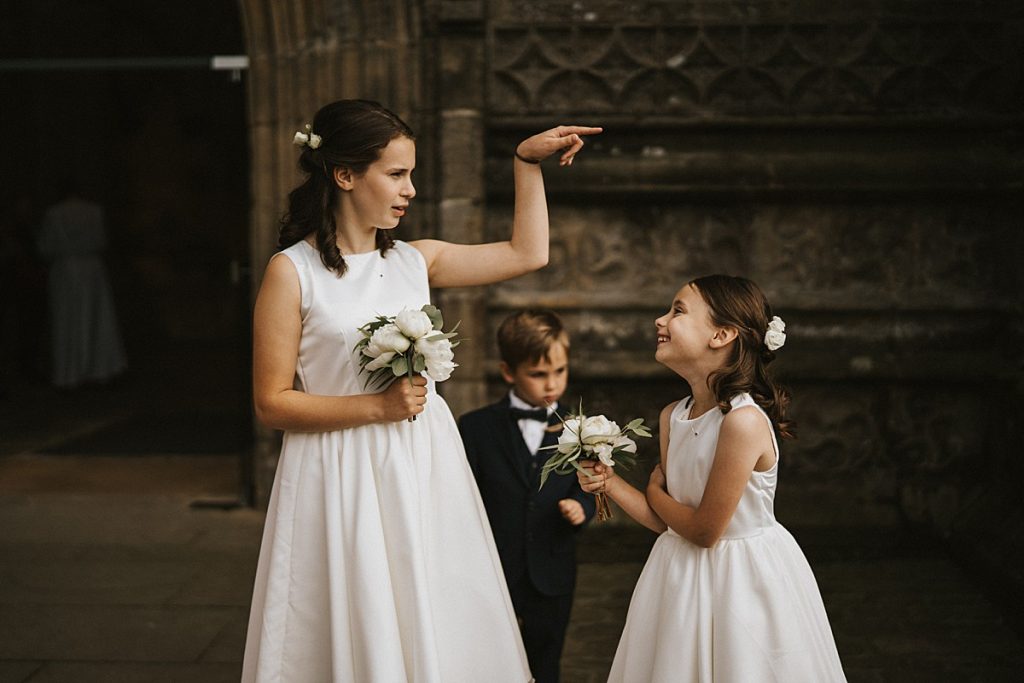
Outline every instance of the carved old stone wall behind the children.
<svg viewBox="0 0 1024 683">
<path fill-rule="evenodd" d="M 381 97 L 423 131 L 431 215 L 413 237 L 505 238 L 515 143 L 605 127 L 571 169 L 546 165 L 551 264 L 438 294 L 474 339 L 444 386 L 456 414 L 503 390 L 497 323 L 545 305 L 573 333 L 570 393 L 653 420 L 685 387 L 653 362 L 652 319 L 693 276 L 746 274 L 788 323 L 783 518 L 909 521 L 962 548 L 1021 526 L 1005 490 L 1024 474 L 1014 3 L 243 4 L 254 263 L 289 131 L 334 96 Z"/>
</svg>

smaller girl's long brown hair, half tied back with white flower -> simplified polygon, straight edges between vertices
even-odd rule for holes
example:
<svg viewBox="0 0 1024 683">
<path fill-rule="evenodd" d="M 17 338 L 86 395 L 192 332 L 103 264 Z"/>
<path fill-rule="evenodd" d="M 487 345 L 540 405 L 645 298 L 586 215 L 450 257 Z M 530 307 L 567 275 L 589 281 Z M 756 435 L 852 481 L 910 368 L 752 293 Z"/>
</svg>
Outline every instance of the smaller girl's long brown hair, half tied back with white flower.
<svg viewBox="0 0 1024 683">
<path fill-rule="evenodd" d="M 719 409 L 728 413 L 732 408 L 729 401 L 736 394 L 748 392 L 768 414 L 780 437 L 795 438 L 796 425 L 785 418 L 790 393 L 768 374 L 767 366 L 775 359 L 775 352 L 764 341 L 772 318 L 771 305 L 764 293 L 752 281 L 732 275 L 707 275 L 690 285 L 711 309 L 712 323 L 738 333 L 725 367 L 708 378 Z"/>
</svg>

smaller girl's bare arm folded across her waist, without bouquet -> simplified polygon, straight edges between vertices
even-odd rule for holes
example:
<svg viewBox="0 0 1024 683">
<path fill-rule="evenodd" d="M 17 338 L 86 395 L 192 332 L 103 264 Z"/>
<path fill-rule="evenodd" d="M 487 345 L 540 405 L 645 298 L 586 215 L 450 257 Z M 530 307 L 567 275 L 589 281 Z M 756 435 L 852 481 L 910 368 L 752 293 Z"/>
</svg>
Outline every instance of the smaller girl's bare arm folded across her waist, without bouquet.
<svg viewBox="0 0 1024 683">
<path fill-rule="evenodd" d="M 660 471 L 651 475 L 647 502 L 676 533 L 711 548 L 729 525 L 751 473 L 768 469 L 775 457 L 771 427 L 764 416 L 755 408 L 736 409 L 722 422 L 700 504 L 693 508 L 669 496 Z"/>
</svg>

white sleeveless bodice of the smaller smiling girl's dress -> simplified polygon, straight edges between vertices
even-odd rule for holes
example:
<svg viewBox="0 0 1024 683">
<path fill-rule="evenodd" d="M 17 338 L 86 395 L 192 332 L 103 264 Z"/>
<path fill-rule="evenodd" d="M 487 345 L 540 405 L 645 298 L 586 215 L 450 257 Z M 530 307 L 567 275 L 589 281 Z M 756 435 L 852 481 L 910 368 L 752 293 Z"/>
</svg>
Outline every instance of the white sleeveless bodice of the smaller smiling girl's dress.
<svg viewBox="0 0 1024 683">
<path fill-rule="evenodd" d="M 703 497 L 715 449 L 725 416 L 714 408 L 695 418 L 689 417 L 693 398 L 679 401 L 672 411 L 669 426 L 669 454 L 666 463 L 666 481 L 669 495 L 683 505 L 697 507 Z M 750 394 L 742 393 L 732 399 L 732 410 L 753 405 L 769 426 L 771 420 Z M 778 443 L 772 429 L 775 463 L 764 472 L 753 472 L 746 481 L 736 511 L 722 535 L 723 539 L 741 539 L 755 536 L 775 523 L 775 484 L 778 479 Z"/>
</svg>

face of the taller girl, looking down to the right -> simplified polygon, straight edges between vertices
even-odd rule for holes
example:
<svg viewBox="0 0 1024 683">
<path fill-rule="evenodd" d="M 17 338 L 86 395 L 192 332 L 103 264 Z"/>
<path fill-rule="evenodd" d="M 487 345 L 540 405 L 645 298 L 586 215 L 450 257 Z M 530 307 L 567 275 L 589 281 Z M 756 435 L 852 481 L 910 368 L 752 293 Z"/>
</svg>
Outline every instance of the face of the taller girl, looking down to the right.
<svg viewBox="0 0 1024 683">
<path fill-rule="evenodd" d="M 354 222 L 366 227 L 397 227 L 416 197 L 414 168 L 416 142 L 404 136 L 388 142 L 366 173 L 351 176 L 348 198 Z"/>
</svg>

